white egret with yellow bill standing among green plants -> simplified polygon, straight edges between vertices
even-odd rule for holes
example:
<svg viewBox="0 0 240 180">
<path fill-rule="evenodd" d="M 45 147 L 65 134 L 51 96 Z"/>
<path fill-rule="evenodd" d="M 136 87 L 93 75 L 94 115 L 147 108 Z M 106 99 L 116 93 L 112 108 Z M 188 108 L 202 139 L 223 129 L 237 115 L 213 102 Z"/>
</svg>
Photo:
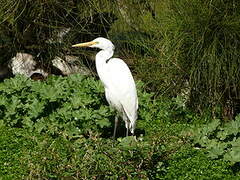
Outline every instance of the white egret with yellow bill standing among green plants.
<svg viewBox="0 0 240 180">
<path fill-rule="evenodd" d="M 129 130 L 134 135 L 138 109 L 136 85 L 127 64 L 122 59 L 112 58 L 115 48 L 113 43 L 106 38 L 98 37 L 72 47 L 101 49 L 95 58 L 97 73 L 104 85 L 108 103 L 118 111 L 115 116 L 113 137 L 116 136 L 119 113 L 125 122 L 126 136 Z"/>
</svg>

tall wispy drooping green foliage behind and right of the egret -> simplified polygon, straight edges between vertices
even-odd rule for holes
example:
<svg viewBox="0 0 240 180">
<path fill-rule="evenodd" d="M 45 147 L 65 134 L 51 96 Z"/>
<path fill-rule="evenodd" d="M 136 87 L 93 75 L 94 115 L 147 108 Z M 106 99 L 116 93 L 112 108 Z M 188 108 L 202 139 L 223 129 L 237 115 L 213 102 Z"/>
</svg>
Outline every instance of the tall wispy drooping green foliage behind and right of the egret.
<svg viewBox="0 0 240 180">
<path fill-rule="evenodd" d="M 141 3 L 129 2 L 126 6 L 134 8 L 126 13 L 138 31 L 122 30 L 122 22 L 112 37 L 120 36 L 116 42 L 124 41 L 123 49 L 128 50 L 127 56 L 132 55 L 130 62 L 135 62 L 137 76 L 148 88 L 175 96 L 187 87 L 193 109 L 201 112 L 207 108 L 214 116 L 228 119 L 238 113 L 240 3 L 141 1 L 150 2 L 154 17 Z M 235 112 L 224 114 L 229 107 Z"/>
</svg>

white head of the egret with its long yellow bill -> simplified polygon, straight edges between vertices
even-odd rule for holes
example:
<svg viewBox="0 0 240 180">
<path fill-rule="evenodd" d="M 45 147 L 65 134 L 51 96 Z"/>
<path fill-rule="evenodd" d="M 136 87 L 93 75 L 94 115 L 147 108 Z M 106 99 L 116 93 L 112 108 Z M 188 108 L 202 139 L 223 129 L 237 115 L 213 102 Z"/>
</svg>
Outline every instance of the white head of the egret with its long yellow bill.
<svg viewBox="0 0 240 180">
<path fill-rule="evenodd" d="M 114 49 L 113 43 L 103 37 L 98 37 L 90 42 L 85 42 L 85 43 L 79 43 L 72 45 L 72 47 L 91 47 L 91 48 L 99 48 L 99 49 Z"/>
</svg>

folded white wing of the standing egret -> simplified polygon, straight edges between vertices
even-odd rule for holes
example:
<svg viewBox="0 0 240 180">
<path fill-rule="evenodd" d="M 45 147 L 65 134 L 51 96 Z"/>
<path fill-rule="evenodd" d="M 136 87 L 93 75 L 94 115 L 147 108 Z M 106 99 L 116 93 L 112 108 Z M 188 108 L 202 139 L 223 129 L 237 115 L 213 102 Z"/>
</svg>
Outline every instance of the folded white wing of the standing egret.
<svg viewBox="0 0 240 180">
<path fill-rule="evenodd" d="M 136 120 L 138 99 L 132 74 L 126 63 L 119 58 L 108 61 L 108 89 L 121 102 L 130 120 Z"/>
</svg>

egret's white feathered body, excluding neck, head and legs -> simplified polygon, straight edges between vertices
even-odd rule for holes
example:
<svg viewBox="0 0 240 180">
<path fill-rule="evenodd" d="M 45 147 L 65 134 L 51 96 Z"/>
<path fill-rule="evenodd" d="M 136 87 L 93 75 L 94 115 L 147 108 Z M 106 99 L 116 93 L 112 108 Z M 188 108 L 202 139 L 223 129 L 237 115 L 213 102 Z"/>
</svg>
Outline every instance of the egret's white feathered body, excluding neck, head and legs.
<svg viewBox="0 0 240 180">
<path fill-rule="evenodd" d="M 130 131 L 133 133 L 137 119 L 138 99 L 132 74 L 121 59 L 112 58 L 107 64 L 109 79 L 105 87 L 106 98 L 109 104 L 119 112 L 126 113 L 130 121 Z"/>
</svg>

